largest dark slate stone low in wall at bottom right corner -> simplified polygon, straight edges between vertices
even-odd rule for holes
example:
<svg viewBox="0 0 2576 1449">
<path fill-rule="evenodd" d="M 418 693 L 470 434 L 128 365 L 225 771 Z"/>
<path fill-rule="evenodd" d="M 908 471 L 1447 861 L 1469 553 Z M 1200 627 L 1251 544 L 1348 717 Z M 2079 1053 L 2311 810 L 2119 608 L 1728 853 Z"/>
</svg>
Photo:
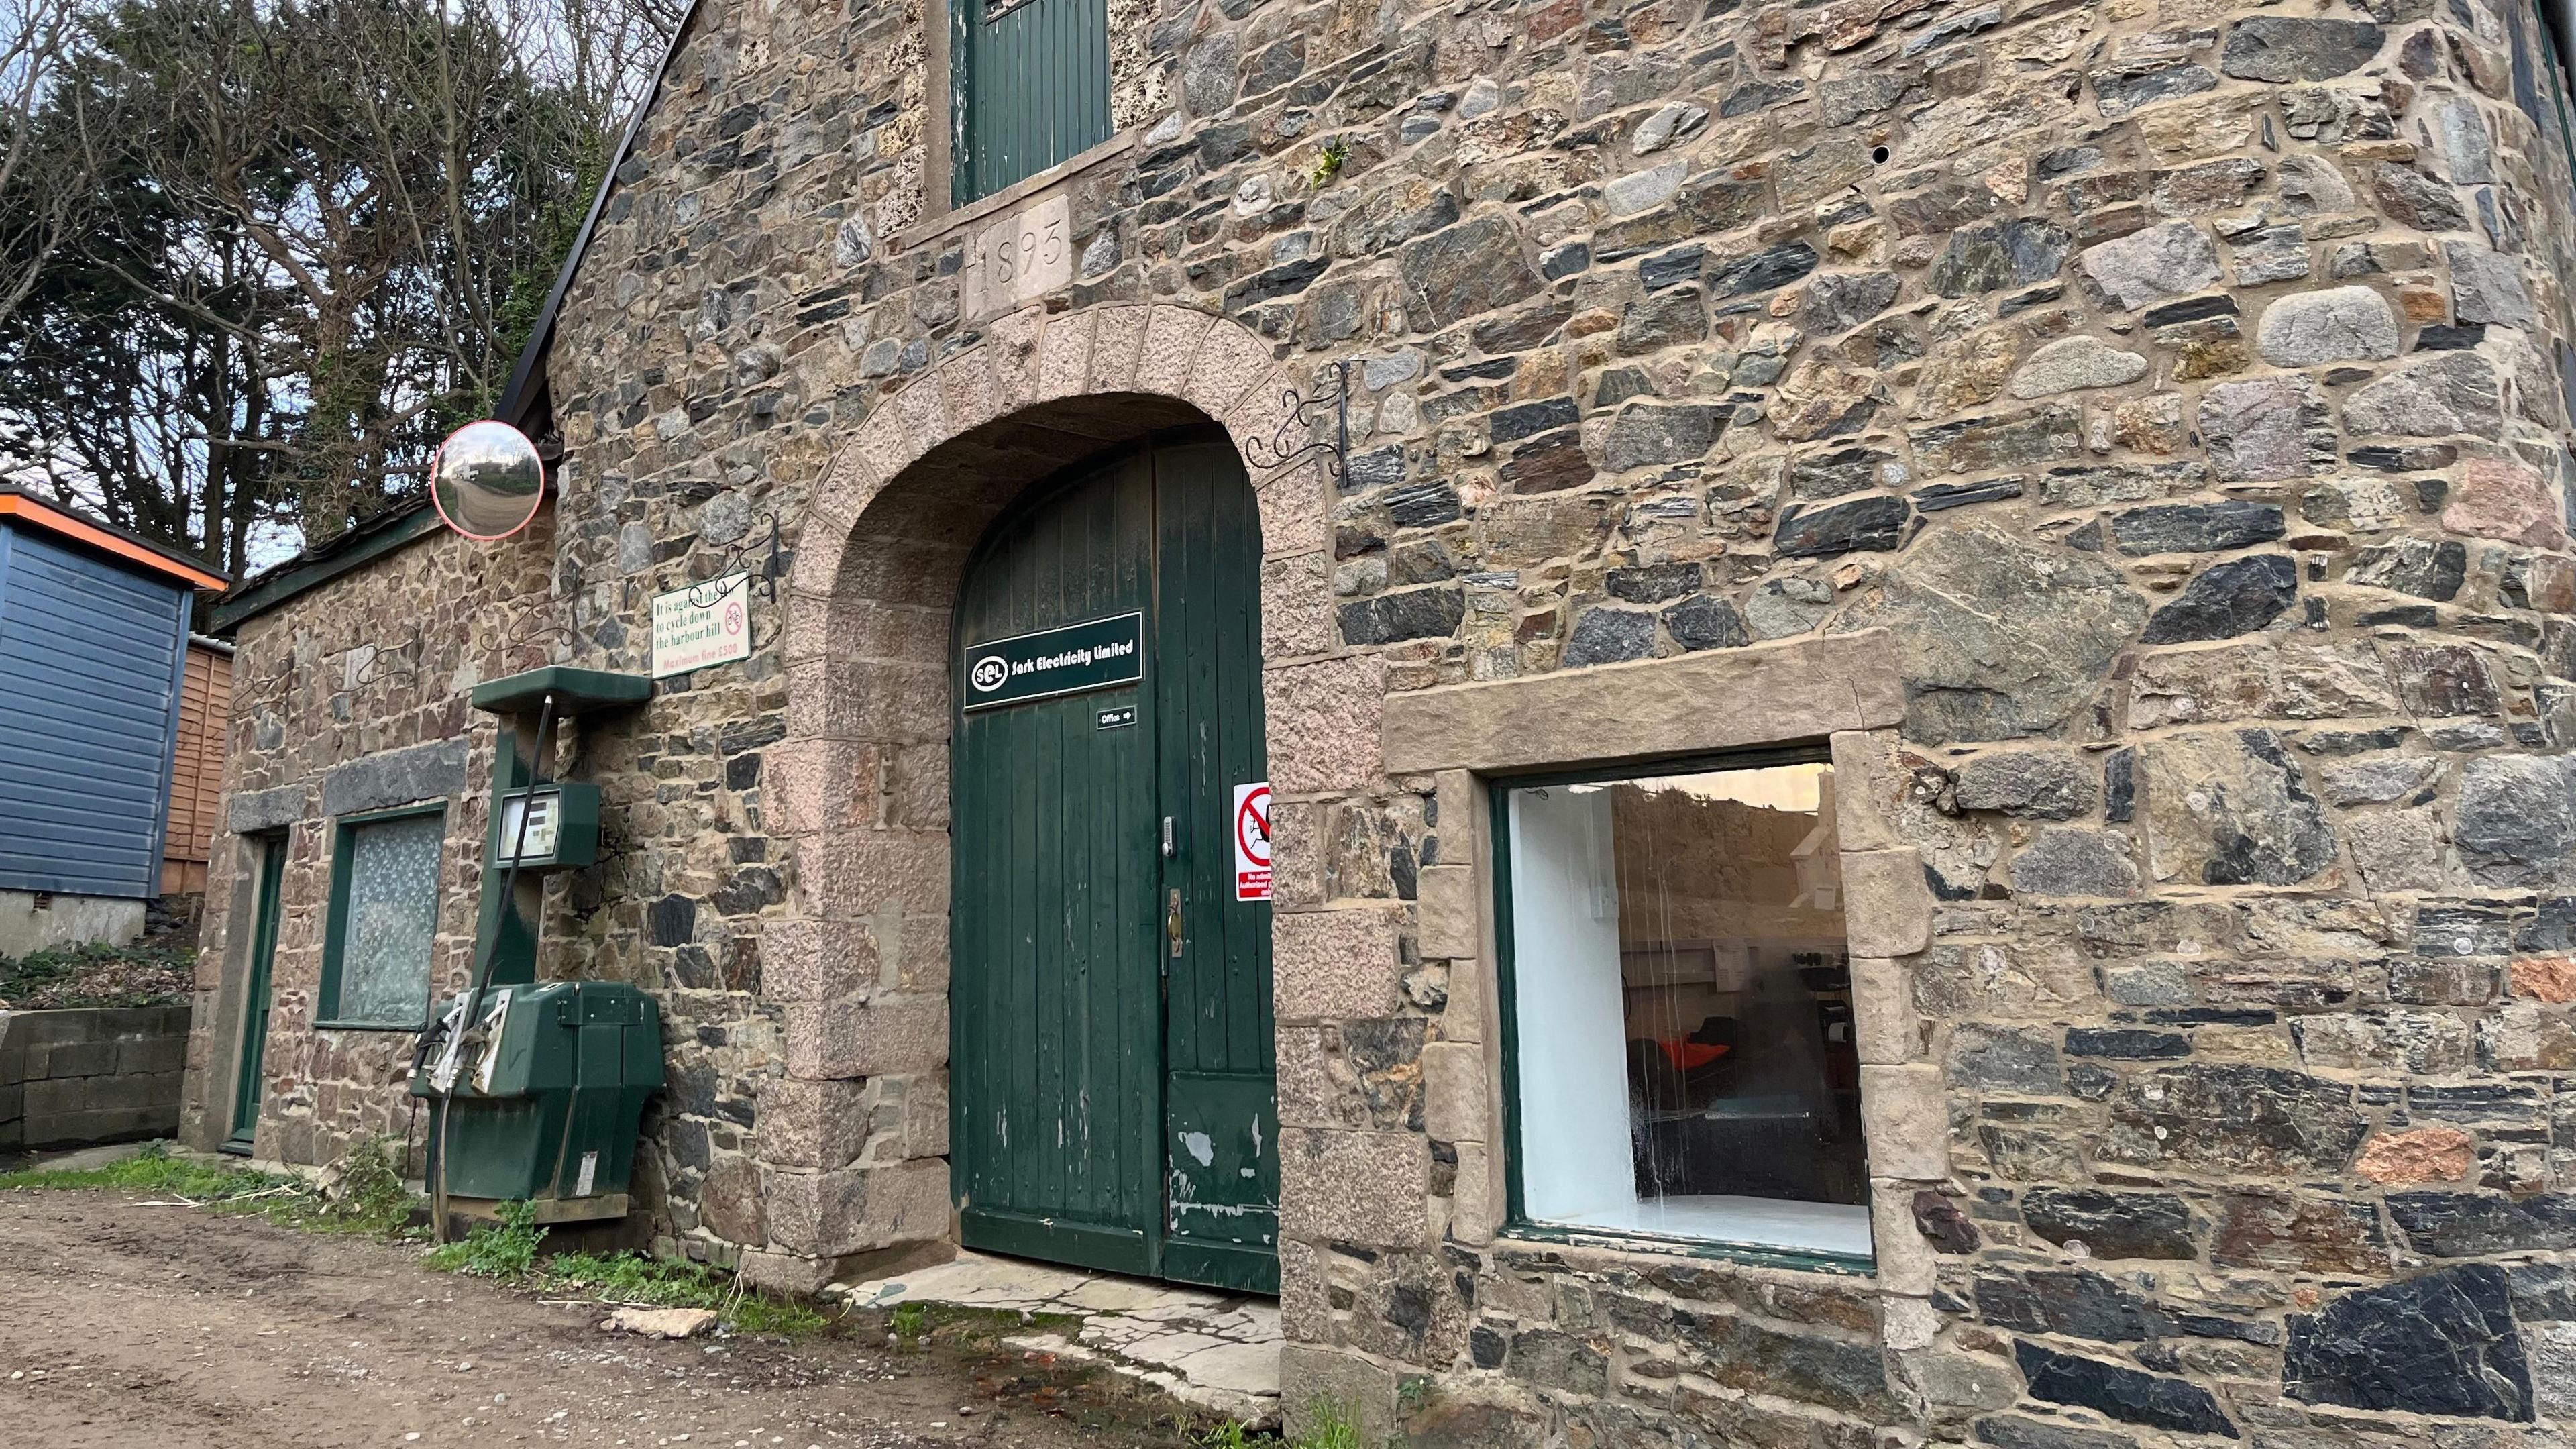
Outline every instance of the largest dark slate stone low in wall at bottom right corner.
<svg viewBox="0 0 2576 1449">
<path fill-rule="evenodd" d="M 2504 1269 L 2470 1263 L 2290 1315 L 2280 1387 L 2303 1403 L 2532 1418 Z"/>
</svg>

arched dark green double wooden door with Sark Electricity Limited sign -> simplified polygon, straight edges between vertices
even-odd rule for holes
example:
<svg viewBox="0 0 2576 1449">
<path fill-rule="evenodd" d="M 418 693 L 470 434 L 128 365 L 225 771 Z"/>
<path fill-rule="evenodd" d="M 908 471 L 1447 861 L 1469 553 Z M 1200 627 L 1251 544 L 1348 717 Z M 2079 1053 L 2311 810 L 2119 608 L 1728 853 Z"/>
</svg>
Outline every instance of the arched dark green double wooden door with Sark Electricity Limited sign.
<svg viewBox="0 0 2576 1449">
<path fill-rule="evenodd" d="M 958 598 L 951 1111 L 969 1248 L 1278 1287 L 1260 529 L 1221 436 L 1041 485 Z M 1170 820 L 1167 820 L 1170 817 Z"/>
</svg>

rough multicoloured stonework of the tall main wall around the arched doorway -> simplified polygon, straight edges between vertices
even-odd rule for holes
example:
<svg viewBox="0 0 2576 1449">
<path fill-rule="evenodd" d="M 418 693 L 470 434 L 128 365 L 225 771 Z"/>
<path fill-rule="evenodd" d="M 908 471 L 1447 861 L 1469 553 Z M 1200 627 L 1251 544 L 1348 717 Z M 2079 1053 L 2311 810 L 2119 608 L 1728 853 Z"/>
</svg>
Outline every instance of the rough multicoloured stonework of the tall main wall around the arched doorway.
<svg viewBox="0 0 2576 1449">
<path fill-rule="evenodd" d="M 827 459 L 1010 345 L 961 317 L 958 237 L 891 245 L 917 26 L 708 5 L 683 46 L 551 369 L 580 663 L 636 668 L 649 593 L 768 513 L 804 547 Z M 1319 657 L 1273 737 L 1368 761 L 1378 691 L 1878 627 L 1906 691 L 1878 810 L 1942 902 L 1899 980 L 1947 1173 L 1880 1214 L 1911 1232 L 1883 1261 L 1937 1250 L 1922 1284 L 1476 1240 L 1492 1178 L 1443 1132 L 1489 1091 L 1458 1049 L 1489 964 L 1417 900 L 1471 797 L 1283 784 L 1283 980 L 1298 936 L 1350 982 L 1283 1036 L 1321 1083 L 1283 1080 L 1288 1194 L 1342 1199 L 1291 1214 L 1301 1382 L 1417 1444 L 2555 1441 L 2522 1423 L 2576 1413 L 2576 222 L 2535 36 L 2478 0 L 1151 31 L 1182 111 L 1072 186 L 1046 309 L 1355 358 L 1332 559 L 1267 596 Z M 943 668 L 938 629 L 902 639 Z M 629 848 L 567 964 L 662 987 L 706 1047 L 672 1227 L 796 1253 L 724 1176 L 925 1160 L 894 1085 L 938 1075 L 770 1067 L 762 944 L 824 871 L 770 820 L 781 657 L 762 634 L 598 743 Z M 943 828 L 935 766 L 829 761 L 853 822 Z M 829 1129 L 744 1145 L 768 1093 Z"/>
</svg>

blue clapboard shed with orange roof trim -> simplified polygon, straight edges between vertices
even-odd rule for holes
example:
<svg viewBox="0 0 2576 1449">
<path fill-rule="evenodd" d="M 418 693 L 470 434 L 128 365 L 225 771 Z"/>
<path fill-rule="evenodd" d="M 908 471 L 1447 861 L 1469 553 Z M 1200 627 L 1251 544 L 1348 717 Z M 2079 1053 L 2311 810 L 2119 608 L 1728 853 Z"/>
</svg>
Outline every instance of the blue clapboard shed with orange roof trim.
<svg viewBox="0 0 2576 1449">
<path fill-rule="evenodd" d="M 191 596 L 224 583 L 0 485 L 0 954 L 142 923 L 160 892 Z"/>
</svg>

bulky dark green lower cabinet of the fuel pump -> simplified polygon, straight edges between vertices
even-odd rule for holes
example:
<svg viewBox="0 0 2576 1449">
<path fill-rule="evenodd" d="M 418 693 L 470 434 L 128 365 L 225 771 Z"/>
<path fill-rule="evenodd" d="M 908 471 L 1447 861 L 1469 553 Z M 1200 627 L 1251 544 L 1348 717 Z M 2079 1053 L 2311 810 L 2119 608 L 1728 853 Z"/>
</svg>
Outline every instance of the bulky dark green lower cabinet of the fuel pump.
<svg viewBox="0 0 2576 1449">
<path fill-rule="evenodd" d="M 456 1008 L 440 1003 L 438 1021 Z M 433 1134 L 448 1196 L 464 1212 L 533 1201 L 541 1222 L 623 1217 L 644 1098 L 662 1088 L 662 1011 L 623 982 L 495 985 L 482 1026 L 464 1052 L 433 1049 L 412 1073 L 422 1098 L 453 1075 Z"/>
</svg>

